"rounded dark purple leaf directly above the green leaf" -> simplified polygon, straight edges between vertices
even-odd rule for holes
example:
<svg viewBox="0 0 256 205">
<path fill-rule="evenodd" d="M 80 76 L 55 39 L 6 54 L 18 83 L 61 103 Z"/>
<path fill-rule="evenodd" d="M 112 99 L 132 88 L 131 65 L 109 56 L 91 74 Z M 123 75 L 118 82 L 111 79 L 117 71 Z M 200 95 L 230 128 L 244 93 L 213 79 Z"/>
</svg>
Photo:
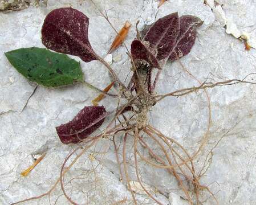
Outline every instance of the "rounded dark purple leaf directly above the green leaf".
<svg viewBox="0 0 256 205">
<path fill-rule="evenodd" d="M 84 62 L 96 60 L 88 26 L 89 19 L 82 12 L 71 7 L 55 9 L 44 19 L 42 43 L 56 52 L 79 56 Z"/>
</svg>

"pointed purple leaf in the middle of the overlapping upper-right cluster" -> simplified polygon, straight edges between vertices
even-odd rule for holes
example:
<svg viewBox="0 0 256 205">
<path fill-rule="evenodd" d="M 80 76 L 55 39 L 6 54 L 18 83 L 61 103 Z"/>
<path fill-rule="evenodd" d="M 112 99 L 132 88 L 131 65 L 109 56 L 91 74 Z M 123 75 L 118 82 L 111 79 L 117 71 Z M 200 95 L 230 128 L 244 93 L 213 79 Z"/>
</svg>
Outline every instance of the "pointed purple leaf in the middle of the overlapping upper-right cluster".
<svg viewBox="0 0 256 205">
<path fill-rule="evenodd" d="M 168 59 L 176 45 L 180 32 L 178 13 L 166 15 L 158 19 L 148 30 L 144 40 L 152 49 L 157 50 L 157 59 Z"/>
</svg>

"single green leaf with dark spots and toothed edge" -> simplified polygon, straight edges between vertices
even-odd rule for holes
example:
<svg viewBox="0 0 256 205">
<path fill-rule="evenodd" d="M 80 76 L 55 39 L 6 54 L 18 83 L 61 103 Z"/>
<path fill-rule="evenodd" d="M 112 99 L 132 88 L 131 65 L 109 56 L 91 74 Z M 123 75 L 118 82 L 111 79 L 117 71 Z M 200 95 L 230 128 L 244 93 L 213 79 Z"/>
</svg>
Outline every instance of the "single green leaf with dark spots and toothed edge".
<svg viewBox="0 0 256 205">
<path fill-rule="evenodd" d="M 48 51 L 45 48 L 19 48 L 5 53 L 9 62 L 30 81 L 46 87 L 83 82 L 80 63 L 67 55 Z"/>
</svg>

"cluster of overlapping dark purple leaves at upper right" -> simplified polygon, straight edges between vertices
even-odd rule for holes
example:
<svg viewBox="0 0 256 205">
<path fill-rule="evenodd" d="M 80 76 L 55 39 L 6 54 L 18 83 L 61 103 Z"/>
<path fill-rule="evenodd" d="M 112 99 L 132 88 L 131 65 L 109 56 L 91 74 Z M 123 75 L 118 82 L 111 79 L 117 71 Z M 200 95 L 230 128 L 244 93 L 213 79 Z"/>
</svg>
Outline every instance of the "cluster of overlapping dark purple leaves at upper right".
<svg viewBox="0 0 256 205">
<path fill-rule="evenodd" d="M 136 63 L 144 60 L 150 67 L 162 69 L 166 60 L 177 60 L 190 52 L 196 40 L 196 28 L 202 23 L 198 17 L 178 17 L 178 13 L 160 18 L 141 31 L 141 39 L 133 40 L 133 60 Z"/>
</svg>

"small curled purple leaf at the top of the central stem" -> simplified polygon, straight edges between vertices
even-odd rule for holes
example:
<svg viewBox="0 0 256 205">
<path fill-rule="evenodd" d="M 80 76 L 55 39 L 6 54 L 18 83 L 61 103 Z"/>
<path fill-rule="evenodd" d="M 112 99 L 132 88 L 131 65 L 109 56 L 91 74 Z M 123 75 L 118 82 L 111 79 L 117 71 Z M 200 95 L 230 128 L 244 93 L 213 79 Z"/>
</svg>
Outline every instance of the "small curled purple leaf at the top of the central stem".
<svg viewBox="0 0 256 205">
<path fill-rule="evenodd" d="M 131 44 L 131 54 L 135 63 L 137 60 L 145 60 L 152 67 L 161 69 L 159 62 L 156 59 L 156 54 L 154 55 L 153 53 L 154 51 L 152 51 L 149 46 L 145 46 L 140 40 L 133 40 Z"/>
</svg>

